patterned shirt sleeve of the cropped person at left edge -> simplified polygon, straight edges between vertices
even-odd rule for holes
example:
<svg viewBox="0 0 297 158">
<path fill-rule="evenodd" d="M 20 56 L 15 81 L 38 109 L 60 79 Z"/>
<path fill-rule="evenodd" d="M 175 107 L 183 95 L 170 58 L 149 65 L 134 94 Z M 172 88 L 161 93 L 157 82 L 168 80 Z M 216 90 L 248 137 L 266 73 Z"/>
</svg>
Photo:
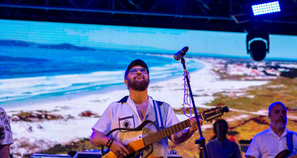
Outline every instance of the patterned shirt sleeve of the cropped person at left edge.
<svg viewBox="0 0 297 158">
<path fill-rule="evenodd" d="M 0 108 L 0 145 L 12 144 L 12 133 L 9 118 L 5 111 Z"/>
</svg>

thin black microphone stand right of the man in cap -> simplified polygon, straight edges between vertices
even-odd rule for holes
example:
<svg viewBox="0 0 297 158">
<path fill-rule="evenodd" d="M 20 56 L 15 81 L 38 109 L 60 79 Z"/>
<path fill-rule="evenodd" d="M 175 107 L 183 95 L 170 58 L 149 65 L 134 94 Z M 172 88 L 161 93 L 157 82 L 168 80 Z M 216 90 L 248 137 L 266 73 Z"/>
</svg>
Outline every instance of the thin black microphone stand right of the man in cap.
<svg viewBox="0 0 297 158">
<path fill-rule="evenodd" d="M 184 70 L 187 70 L 186 65 L 185 65 L 186 61 L 185 61 L 184 57 L 182 57 L 181 63 L 183 64 Z M 196 106 L 195 106 L 195 102 L 194 102 L 194 98 L 193 98 L 192 89 L 191 89 L 188 74 L 186 74 L 186 79 L 187 79 L 187 83 L 188 83 L 188 87 L 189 87 L 189 91 L 190 91 L 190 95 L 191 95 L 191 99 L 192 99 L 192 103 L 193 103 L 195 118 L 197 120 L 197 126 L 198 126 L 199 134 L 200 134 L 200 138 L 195 141 L 195 144 L 199 145 L 198 146 L 199 158 L 203 158 L 203 154 L 204 154 L 204 158 L 208 158 L 206 148 L 205 148 L 205 138 L 202 135 L 202 130 L 201 130 L 201 127 L 200 127 L 200 122 L 199 122 L 199 118 L 198 118 L 198 114 L 197 114 L 197 110 L 196 110 Z M 202 152 L 202 150 L 203 150 L 203 152 Z"/>
</svg>

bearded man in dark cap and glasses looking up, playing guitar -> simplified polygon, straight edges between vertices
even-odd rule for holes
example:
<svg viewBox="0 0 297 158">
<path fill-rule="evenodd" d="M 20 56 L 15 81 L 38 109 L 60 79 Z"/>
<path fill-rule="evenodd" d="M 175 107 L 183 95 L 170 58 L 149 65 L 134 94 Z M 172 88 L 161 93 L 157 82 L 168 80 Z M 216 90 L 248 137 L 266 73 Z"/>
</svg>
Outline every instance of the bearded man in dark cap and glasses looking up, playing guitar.
<svg viewBox="0 0 297 158">
<path fill-rule="evenodd" d="M 118 102 L 111 103 L 92 127 L 93 133 L 90 142 L 95 146 L 107 146 L 111 151 L 109 153 L 113 155 L 113 157 L 108 158 L 123 158 L 128 155 L 130 157 L 131 154 L 133 154 L 132 152 L 135 152 L 134 150 L 138 150 L 135 146 L 140 145 L 135 145 L 134 143 L 134 147 L 130 145 L 128 148 L 127 144 L 129 145 L 129 143 L 133 142 L 137 143 L 138 140 L 142 140 L 145 136 L 156 132 L 155 126 L 150 123 L 137 131 L 126 132 L 124 129 L 116 130 L 110 134 L 111 137 L 107 137 L 106 134 L 112 129 L 136 128 L 146 120 L 151 120 L 157 124 L 157 127 L 161 128 L 167 128 L 179 123 L 178 118 L 169 104 L 155 101 L 148 96 L 149 71 L 144 61 L 136 59 L 129 64 L 125 73 L 124 82 L 129 89 L 130 95 Z M 189 118 L 189 121 L 190 128 L 180 130 L 165 138 L 163 138 L 163 133 L 163 137 L 160 136 L 161 140 L 158 142 L 155 141 L 156 143 L 152 144 L 151 154 L 149 154 L 147 150 L 141 150 L 139 153 L 135 154 L 134 158 L 145 158 L 146 156 L 148 156 L 148 158 L 167 158 L 168 139 L 174 144 L 180 144 L 188 140 L 198 130 L 196 119 Z M 202 125 L 203 120 L 199 118 L 199 122 Z M 167 131 L 167 133 L 169 133 L 169 131 Z M 142 141 L 143 143 L 141 144 L 149 144 L 144 140 Z M 148 147 L 144 149 L 146 148 Z"/>
</svg>

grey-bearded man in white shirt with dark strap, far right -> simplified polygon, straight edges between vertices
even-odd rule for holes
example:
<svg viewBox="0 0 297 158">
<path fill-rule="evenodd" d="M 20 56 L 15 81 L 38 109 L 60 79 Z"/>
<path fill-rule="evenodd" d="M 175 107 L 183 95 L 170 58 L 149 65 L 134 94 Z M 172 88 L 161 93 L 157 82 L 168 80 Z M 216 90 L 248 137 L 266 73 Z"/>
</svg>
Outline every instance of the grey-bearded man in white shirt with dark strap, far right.
<svg viewBox="0 0 297 158">
<path fill-rule="evenodd" d="M 247 148 L 247 158 L 297 158 L 297 133 L 286 128 L 287 108 L 282 102 L 268 108 L 270 128 L 256 134 Z"/>
</svg>

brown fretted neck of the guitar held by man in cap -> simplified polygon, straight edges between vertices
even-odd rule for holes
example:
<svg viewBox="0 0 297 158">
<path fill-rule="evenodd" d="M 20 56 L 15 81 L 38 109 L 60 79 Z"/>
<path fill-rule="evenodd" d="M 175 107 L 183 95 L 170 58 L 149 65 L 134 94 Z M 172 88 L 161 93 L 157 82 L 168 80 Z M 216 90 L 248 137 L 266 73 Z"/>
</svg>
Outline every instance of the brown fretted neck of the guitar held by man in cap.
<svg viewBox="0 0 297 158">
<path fill-rule="evenodd" d="M 198 118 L 202 118 L 201 114 L 198 115 Z M 158 142 L 159 140 L 161 140 L 165 137 L 168 137 L 171 134 L 179 132 L 187 127 L 190 127 L 190 125 L 191 125 L 190 120 L 186 119 L 186 120 L 179 122 L 177 124 L 174 124 L 168 128 L 165 128 L 163 130 L 157 131 L 155 133 L 152 133 L 148 136 L 143 137 L 143 142 L 144 142 L 145 146 L 148 146 L 149 144 Z"/>
</svg>

